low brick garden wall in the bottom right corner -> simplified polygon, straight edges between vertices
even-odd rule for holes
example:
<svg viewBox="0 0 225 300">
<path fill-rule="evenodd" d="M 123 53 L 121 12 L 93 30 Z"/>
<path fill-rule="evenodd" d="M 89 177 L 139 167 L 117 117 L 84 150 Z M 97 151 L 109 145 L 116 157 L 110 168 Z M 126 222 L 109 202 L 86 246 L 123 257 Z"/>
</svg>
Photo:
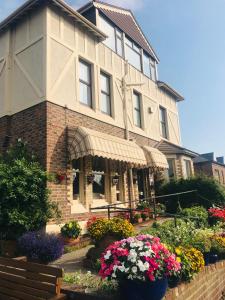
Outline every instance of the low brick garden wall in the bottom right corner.
<svg viewBox="0 0 225 300">
<path fill-rule="evenodd" d="M 167 292 L 164 300 L 224 300 L 225 261 L 204 268 L 190 283 Z"/>
</svg>

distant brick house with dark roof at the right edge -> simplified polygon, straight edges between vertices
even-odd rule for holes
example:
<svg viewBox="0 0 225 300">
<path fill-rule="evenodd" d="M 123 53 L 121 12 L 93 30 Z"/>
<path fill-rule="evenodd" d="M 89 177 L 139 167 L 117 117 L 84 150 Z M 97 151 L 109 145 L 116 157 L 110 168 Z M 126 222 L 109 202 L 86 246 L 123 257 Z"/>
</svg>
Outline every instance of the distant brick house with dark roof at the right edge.
<svg viewBox="0 0 225 300">
<path fill-rule="evenodd" d="M 213 177 L 225 186 L 225 163 L 224 157 L 214 158 L 214 153 L 205 153 L 194 159 L 196 174 L 205 174 Z"/>
</svg>

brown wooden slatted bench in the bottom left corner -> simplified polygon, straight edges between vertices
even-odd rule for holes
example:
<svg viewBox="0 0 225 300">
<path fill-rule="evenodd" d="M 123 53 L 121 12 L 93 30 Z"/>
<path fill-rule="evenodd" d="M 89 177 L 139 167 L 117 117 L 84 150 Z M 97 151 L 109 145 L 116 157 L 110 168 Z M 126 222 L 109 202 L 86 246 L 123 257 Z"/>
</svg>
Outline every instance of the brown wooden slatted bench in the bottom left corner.
<svg viewBox="0 0 225 300">
<path fill-rule="evenodd" d="M 0 300 L 63 300 L 63 270 L 0 257 Z"/>
</svg>

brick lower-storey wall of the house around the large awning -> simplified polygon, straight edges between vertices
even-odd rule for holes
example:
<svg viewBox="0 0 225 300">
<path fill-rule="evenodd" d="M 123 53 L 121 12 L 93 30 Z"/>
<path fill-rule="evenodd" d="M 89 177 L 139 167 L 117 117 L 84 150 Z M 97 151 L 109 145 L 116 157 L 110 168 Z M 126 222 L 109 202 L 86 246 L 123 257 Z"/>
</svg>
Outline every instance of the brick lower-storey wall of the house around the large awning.
<svg viewBox="0 0 225 300">
<path fill-rule="evenodd" d="M 43 102 L 10 117 L 0 118 L 0 151 L 7 135 L 11 136 L 10 143 L 21 138 L 27 142 L 30 150 L 38 157 L 46 170 L 50 173 L 67 173 L 70 175 L 69 154 L 67 153 L 67 126 L 84 126 L 100 132 L 108 133 L 120 138 L 125 137 L 125 130 L 110 124 L 95 120 L 91 117 L 68 110 L 50 102 Z M 140 145 L 154 146 L 155 141 L 131 133 L 131 138 L 136 139 Z M 63 221 L 83 218 L 85 214 L 71 215 L 68 201 L 68 181 L 49 183 L 51 199 L 59 204 Z"/>
</svg>

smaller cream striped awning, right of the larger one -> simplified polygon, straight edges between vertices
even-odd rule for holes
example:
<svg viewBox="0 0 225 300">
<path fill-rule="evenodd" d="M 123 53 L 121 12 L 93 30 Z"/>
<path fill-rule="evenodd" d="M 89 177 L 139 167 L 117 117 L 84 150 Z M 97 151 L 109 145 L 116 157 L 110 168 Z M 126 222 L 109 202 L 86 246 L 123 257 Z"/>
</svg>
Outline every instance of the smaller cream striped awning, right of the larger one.
<svg viewBox="0 0 225 300">
<path fill-rule="evenodd" d="M 169 168 L 166 156 L 161 151 L 149 146 L 144 146 L 143 149 L 149 168 L 161 170 Z"/>
</svg>

